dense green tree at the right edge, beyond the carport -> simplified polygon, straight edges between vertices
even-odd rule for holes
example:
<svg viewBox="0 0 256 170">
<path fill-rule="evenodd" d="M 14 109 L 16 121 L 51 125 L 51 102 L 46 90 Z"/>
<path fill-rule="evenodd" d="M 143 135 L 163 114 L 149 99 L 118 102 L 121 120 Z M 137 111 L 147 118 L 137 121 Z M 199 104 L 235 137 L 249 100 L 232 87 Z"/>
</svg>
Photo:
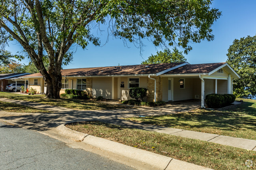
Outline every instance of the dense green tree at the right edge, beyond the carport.
<svg viewBox="0 0 256 170">
<path fill-rule="evenodd" d="M 256 95 L 256 35 L 235 39 L 228 49 L 227 63 L 241 77 L 234 79 L 234 94 L 251 98 Z"/>
</svg>

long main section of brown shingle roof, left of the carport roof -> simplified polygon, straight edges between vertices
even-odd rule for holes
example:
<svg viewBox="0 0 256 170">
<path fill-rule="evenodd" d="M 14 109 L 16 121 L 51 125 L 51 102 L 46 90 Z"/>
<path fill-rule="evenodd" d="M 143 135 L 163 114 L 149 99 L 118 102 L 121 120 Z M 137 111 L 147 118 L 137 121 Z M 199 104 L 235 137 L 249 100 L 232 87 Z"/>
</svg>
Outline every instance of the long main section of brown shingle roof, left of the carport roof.
<svg viewBox="0 0 256 170">
<path fill-rule="evenodd" d="M 178 66 L 184 62 L 163 63 L 163 64 L 140 64 L 129 66 L 112 66 L 96 68 L 75 68 L 62 69 L 62 76 L 104 76 L 104 75 L 134 75 L 134 74 L 155 74 L 166 69 Z M 149 67 L 146 67 L 149 66 Z M 22 77 L 42 77 L 41 73 L 36 73 Z"/>
</svg>

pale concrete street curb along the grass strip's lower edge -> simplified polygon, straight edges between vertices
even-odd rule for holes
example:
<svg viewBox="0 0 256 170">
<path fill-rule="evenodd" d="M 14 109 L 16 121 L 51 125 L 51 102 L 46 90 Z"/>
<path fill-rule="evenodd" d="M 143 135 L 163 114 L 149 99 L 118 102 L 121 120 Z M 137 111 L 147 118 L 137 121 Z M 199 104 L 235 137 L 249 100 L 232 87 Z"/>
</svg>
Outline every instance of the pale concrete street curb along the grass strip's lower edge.
<svg viewBox="0 0 256 170">
<path fill-rule="evenodd" d="M 98 148 L 104 152 L 107 152 L 108 155 L 118 155 L 119 157 L 123 157 L 125 160 L 123 163 L 127 165 L 133 164 L 132 166 L 135 168 L 145 170 L 212 170 L 210 168 L 155 154 L 153 152 L 134 148 L 100 137 L 95 137 L 85 133 L 82 133 L 82 135 L 81 132 L 71 130 L 64 126 L 64 124 L 58 126 L 57 128 L 58 132 L 61 132 L 63 135 L 65 135 L 65 137 L 82 141 L 81 143 Z"/>
</svg>

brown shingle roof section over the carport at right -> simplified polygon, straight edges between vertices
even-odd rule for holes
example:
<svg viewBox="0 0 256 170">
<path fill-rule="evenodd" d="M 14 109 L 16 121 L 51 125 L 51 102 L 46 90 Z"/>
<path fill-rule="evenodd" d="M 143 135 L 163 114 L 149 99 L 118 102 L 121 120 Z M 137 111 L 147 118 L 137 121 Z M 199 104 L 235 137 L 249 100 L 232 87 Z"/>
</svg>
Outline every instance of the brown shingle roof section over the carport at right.
<svg viewBox="0 0 256 170">
<path fill-rule="evenodd" d="M 164 74 L 192 74 L 192 73 L 209 73 L 214 69 L 226 64 L 226 62 L 207 63 L 207 64 L 187 64 L 185 66 L 168 71 Z"/>
</svg>

